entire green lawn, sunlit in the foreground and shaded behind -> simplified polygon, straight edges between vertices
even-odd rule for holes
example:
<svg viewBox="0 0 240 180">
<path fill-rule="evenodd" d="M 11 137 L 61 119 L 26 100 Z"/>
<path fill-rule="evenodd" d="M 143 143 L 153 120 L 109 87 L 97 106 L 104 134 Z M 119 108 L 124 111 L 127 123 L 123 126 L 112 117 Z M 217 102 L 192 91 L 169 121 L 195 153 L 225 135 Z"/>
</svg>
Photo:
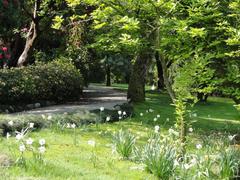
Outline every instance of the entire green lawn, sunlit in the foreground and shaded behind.
<svg viewBox="0 0 240 180">
<path fill-rule="evenodd" d="M 113 86 L 121 90 L 127 87 Z M 27 153 L 27 166 L 0 168 L 1 179 L 156 179 L 149 172 L 136 168 L 140 167 L 139 164 L 113 155 L 111 148 L 112 133 L 121 127 L 130 129 L 138 137 L 137 143 L 143 144 L 154 125 L 159 125 L 162 132 L 166 132 L 174 125 L 174 107 L 170 105 L 171 101 L 167 94 L 148 91 L 146 95 L 146 102 L 134 105 L 133 118 L 126 119 L 120 124 L 119 122 L 102 124 L 99 129 L 96 129 L 95 125 L 77 128 L 77 145 L 74 145 L 71 129 L 63 131 L 43 129 L 30 133 L 28 136 L 34 139 L 46 139 L 45 165 L 33 163 L 31 153 Z M 194 133 L 189 136 L 191 143 L 188 148 L 194 149 L 195 144 L 202 142 L 202 136 L 206 134 L 239 132 L 240 117 L 233 105 L 231 99 L 210 97 L 207 103 L 198 103 L 192 108 L 191 112 L 197 116 L 188 120 L 194 128 Z M 149 108 L 154 112 L 147 113 L 146 110 Z M 140 116 L 140 113 L 143 113 L 143 116 Z M 157 114 L 161 117 L 154 122 Z M 88 140 L 95 140 L 96 147 L 88 145 Z M 12 151 L 9 151 L 9 148 Z M 96 155 L 94 158 L 93 152 Z M 0 138 L 1 153 L 8 154 L 13 159 L 19 155 L 15 138 L 8 140 Z"/>
</svg>

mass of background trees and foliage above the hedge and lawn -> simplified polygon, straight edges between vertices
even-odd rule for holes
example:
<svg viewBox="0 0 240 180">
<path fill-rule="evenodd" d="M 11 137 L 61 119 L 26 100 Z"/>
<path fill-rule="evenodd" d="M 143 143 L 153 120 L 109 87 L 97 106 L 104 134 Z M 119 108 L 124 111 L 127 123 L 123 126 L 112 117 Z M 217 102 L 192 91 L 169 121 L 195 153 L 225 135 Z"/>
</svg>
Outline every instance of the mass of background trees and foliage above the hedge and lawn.
<svg viewBox="0 0 240 180">
<path fill-rule="evenodd" d="M 158 87 L 173 101 L 178 96 L 204 101 L 215 93 L 239 103 L 239 4 L 6 0 L 0 34 L 12 52 L 9 66 L 64 56 L 87 85 L 91 68 L 100 65 L 107 85 L 111 79 L 129 82 L 129 99 L 143 101 L 149 65 L 155 63 Z"/>
</svg>

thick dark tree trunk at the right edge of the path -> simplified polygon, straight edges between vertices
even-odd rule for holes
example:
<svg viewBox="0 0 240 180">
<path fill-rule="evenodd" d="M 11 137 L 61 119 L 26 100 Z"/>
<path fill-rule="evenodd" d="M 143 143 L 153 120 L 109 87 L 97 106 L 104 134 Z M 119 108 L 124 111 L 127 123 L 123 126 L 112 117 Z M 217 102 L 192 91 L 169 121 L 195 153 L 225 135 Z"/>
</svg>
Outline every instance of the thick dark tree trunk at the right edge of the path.
<svg viewBox="0 0 240 180">
<path fill-rule="evenodd" d="M 150 59 L 150 54 L 139 54 L 132 67 L 127 95 L 131 102 L 145 101 L 145 78 Z"/>
</svg>

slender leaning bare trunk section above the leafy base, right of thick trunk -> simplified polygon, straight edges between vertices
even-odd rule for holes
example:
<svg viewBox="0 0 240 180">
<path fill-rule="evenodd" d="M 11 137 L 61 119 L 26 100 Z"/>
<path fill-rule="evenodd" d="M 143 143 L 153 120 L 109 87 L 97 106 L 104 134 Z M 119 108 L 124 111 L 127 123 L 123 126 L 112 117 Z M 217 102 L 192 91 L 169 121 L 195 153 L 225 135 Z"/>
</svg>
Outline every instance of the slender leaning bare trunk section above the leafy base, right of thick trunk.
<svg viewBox="0 0 240 180">
<path fill-rule="evenodd" d="M 175 96 L 175 93 L 172 89 L 172 84 L 170 83 L 170 81 L 168 79 L 166 59 L 164 57 L 160 56 L 160 55 L 159 55 L 159 59 L 161 61 L 161 65 L 162 65 L 164 84 L 166 86 L 168 94 L 170 95 L 172 101 L 174 102 L 175 99 L 176 99 L 176 96 Z"/>
</svg>

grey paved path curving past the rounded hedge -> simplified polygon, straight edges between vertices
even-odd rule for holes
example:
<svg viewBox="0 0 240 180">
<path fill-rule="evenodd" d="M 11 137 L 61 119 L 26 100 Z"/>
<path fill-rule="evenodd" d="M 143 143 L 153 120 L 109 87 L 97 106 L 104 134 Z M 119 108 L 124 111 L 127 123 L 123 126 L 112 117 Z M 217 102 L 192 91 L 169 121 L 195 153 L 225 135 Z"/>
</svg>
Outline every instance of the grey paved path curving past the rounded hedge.
<svg viewBox="0 0 240 180">
<path fill-rule="evenodd" d="M 16 114 L 57 114 L 64 112 L 94 110 L 100 108 L 101 106 L 106 109 L 113 109 L 115 105 L 126 102 L 127 95 L 125 92 L 115 90 L 112 87 L 90 85 L 83 91 L 83 98 L 79 102 L 42 107 Z"/>
</svg>

